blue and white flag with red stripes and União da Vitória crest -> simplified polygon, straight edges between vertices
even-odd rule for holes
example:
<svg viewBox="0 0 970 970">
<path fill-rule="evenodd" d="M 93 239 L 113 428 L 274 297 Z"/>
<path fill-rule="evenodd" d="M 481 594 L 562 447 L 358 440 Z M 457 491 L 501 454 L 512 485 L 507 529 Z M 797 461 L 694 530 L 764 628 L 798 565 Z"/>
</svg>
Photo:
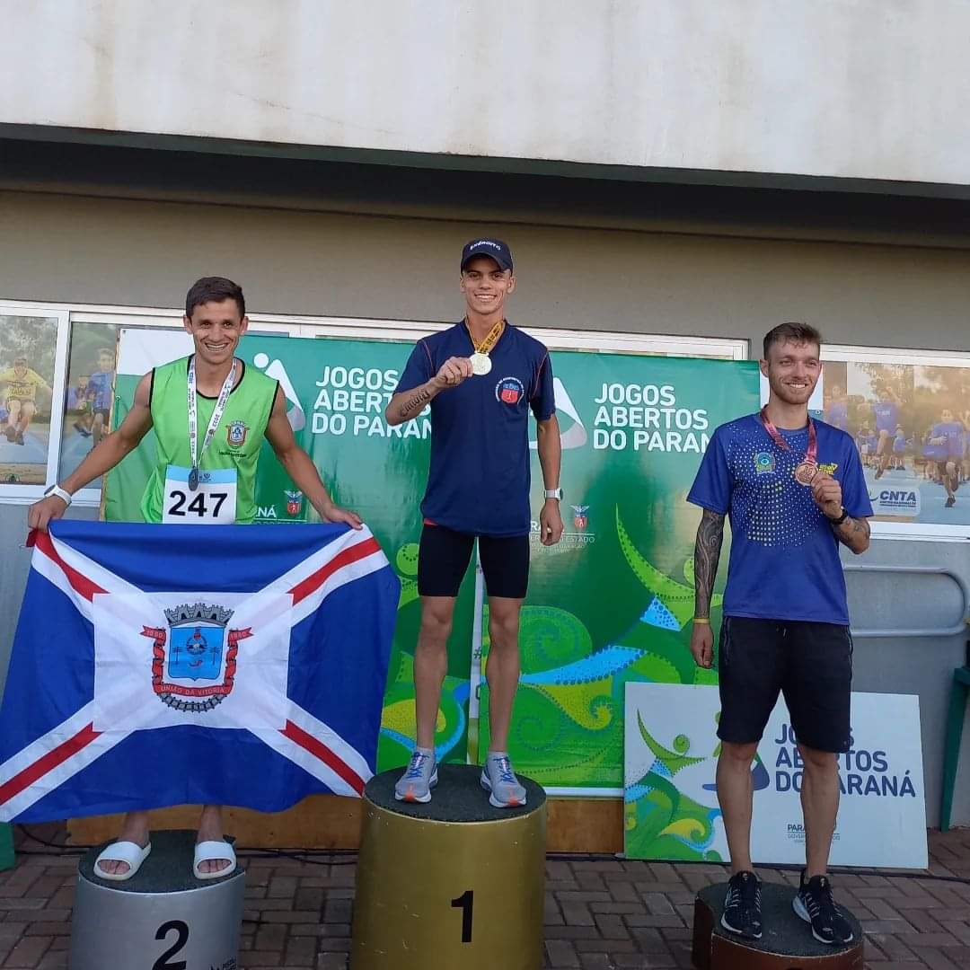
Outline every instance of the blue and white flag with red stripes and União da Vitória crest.
<svg viewBox="0 0 970 970">
<path fill-rule="evenodd" d="M 58 521 L 35 539 L 0 821 L 363 792 L 400 593 L 366 528 Z"/>
</svg>

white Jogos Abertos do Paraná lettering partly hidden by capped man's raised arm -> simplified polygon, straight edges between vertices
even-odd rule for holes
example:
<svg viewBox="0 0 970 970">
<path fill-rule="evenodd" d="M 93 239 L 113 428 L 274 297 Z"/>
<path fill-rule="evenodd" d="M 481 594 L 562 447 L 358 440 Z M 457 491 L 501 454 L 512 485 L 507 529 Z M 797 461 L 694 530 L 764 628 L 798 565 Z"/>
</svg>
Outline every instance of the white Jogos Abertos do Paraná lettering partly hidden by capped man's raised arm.
<svg viewBox="0 0 970 970">
<path fill-rule="evenodd" d="M 391 427 L 384 420 L 384 409 L 400 376 L 394 369 L 328 364 L 316 381 L 320 390 L 313 402 L 310 432 L 336 437 L 431 437 L 429 405 L 403 425 Z"/>
</svg>

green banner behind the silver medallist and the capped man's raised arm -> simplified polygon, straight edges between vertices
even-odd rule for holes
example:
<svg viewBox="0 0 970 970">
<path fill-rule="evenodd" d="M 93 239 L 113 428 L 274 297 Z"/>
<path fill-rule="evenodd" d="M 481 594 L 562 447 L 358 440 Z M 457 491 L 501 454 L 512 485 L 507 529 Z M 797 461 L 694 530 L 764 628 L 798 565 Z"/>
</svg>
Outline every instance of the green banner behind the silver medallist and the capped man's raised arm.
<svg viewBox="0 0 970 970">
<path fill-rule="evenodd" d="M 139 336 L 126 331 L 123 339 Z M 413 662 L 421 620 L 417 562 L 422 519 L 418 505 L 428 477 L 431 418 L 425 413 L 389 429 L 383 417 L 411 347 L 411 343 L 383 340 L 247 337 L 239 349 L 247 367 L 257 367 L 280 382 L 297 440 L 320 470 L 334 501 L 360 514 L 401 578 L 377 749 L 381 770 L 404 764 L 415 736 Z M 119 351 L 123 366 L 123 343 Z M 162 360 L 172 359 L 178 352 L 176 349 Z M 118 373 L 115 427 L 134 400 L 140 376 Z M 257 521 L 315 521 L 315 513 L 276 461 L 273 449 L 269 444 L 263 447 L 256 489 Z M 141 520 L 139 502 L 154 460 L 154 435 L 149 433 L 108 475 L 106 519 Z M 465 761 L 468 753 L 474 582 L 474 571 L 469 569 L 448 640 L 448 675 L 436 729 L 438 757 L 444 760 Z"/>
</svg>

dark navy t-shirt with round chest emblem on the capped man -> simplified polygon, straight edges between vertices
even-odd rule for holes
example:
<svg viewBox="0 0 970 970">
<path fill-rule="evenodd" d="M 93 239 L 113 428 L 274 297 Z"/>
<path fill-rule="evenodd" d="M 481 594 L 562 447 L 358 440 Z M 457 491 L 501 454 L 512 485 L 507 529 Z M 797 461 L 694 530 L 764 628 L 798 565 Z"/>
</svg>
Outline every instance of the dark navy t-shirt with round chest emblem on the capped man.
<svg viewBox="0 0 970 970">
<path fill-rule="evenodd" d="M 464 322 L 418 340 L 398 381 L 409 391 L 449 357 L 474 353 Z M 431 403 L 431 468 L 421 512 L 438 526 L 473 535 L 528 535 L 529 409 L 556 412 L 549 351 L 506 324 L 489 353 L 491 372 L 467 377 Z"/>
</svg>

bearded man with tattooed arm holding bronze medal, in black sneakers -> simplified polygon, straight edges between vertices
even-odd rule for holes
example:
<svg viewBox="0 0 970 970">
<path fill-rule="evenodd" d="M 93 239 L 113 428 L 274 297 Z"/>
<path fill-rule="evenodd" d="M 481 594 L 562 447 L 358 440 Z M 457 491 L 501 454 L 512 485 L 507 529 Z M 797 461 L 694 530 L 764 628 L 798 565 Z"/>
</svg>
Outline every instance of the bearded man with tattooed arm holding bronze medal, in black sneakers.
<svg viewBox="0 0 970 970">
<path fill-rule="evenodd" d="M 826 876 L 839 805 L 838 753 L 850 746 L 852 638 L 839 543 L 854 553 L 868 548 L 872 505 L 853 439 L 808 416 L 822 373 L 821 340 L 805 324 L 769 331 L 761 360 L 768 403 L 711 437 L 688 496 L 704 510 L 695 545 L 691 652 L 698 665 L 713 663 L 711 593 L 728 515 L 717 784 L 731 878 L 722 923 L 760 938 L 751 765 L 781 692 L 804 761 L 806 868 L 792 906 L 817 940 L 837 944 L 853 935 Z"/>
</svg>

